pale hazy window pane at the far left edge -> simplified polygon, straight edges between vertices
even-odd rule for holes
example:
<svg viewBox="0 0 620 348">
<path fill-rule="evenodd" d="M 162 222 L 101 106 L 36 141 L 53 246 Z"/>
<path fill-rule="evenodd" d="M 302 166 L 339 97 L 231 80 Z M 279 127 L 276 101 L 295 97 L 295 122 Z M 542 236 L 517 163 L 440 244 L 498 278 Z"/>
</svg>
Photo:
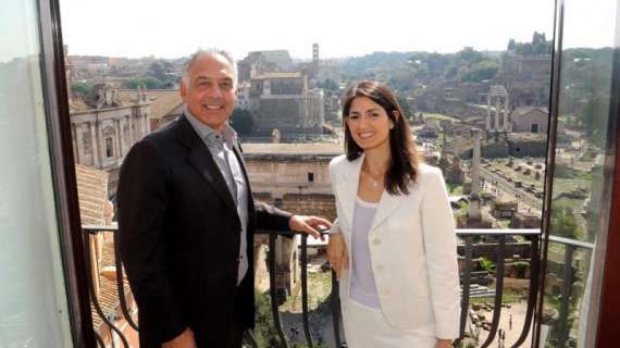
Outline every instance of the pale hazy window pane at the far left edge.
<svg viewBox="0 0 620 348">
<path fill-rule="evenodd" d="M 36 1 L 3 3 L 0 23 L 0 345 L 70 347 Z"/>
</svg>

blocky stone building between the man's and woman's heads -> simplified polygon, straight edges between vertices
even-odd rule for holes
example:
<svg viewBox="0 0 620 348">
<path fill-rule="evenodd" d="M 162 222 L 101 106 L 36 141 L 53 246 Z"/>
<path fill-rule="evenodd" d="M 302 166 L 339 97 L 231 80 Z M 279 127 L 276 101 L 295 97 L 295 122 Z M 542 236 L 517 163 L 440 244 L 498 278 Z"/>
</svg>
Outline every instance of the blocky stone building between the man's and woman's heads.
<svg viewBox="0 0 620 348">
<path fill-rule="evenodd" d="M 250 80 L 256 135 L 319 134 L 325 121 L 323 90 L 308 88 L 305 72 L 271 72 Z"/>
</svg>

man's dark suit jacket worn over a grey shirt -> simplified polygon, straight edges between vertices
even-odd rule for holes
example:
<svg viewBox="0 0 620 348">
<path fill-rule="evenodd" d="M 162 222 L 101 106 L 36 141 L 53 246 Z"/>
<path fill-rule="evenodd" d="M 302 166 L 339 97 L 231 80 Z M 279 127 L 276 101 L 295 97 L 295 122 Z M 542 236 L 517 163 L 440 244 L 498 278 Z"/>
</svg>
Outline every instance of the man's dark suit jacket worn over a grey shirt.
<svg viewBox="0 0 620 348">
<path fill-rule="evenodd" d="M 134 145 L 121 167 L 121 256 L 138 304 L 140 347 L 186 327 L 199 347 L 226 347 L 230 325 L 253 327 L 253 233 L 288 229 L 290 214 L 251 198 L 249 270 L 237 288 L 240 220 L 211 152 L 181 116 Z"/>
</svg>

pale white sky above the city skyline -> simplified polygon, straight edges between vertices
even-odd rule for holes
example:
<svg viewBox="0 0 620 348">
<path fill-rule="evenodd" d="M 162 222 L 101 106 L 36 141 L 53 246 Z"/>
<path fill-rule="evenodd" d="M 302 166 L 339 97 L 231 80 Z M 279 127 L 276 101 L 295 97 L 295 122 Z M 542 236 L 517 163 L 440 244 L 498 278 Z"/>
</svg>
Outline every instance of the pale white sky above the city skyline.
<svg viewBox="0 0 620 348">
<path fill-rule="evenodd" d="M 567 47 L 611 46 L 616 0 L 566 2 Z M 509 38 L 530 41 L 534 30 L 551 39 L 554 26 L 553 0 L 60 0 L 60 7 L 70 54 L 128 58 L 178 58 L 216 47 L 237 59 L 286 49 L 309 60 L 313 42 L 325 59 L 464 46 L 504 50 Z M 10 28 L 20 11 L 3 7 L 0 25 Z M 20 47 L 10 30 L 1 32 L 9 49 L 0 62 Z"/>
</svg>

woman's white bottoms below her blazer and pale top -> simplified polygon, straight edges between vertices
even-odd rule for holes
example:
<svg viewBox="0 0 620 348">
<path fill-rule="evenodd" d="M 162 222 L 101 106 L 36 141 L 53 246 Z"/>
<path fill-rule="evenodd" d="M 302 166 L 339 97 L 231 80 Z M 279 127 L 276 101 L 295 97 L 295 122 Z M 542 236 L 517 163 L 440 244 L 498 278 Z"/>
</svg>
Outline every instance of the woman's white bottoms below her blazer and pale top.
<svg viewBox="0 0 620 348">
<path fill-rule="evenodd" d="M 350 299 L 343 302 L 343 322 L 349 348 L 434 348 L 437 343 L 434 325 L 394 328 L 381 310 Z"/>
</svg>

